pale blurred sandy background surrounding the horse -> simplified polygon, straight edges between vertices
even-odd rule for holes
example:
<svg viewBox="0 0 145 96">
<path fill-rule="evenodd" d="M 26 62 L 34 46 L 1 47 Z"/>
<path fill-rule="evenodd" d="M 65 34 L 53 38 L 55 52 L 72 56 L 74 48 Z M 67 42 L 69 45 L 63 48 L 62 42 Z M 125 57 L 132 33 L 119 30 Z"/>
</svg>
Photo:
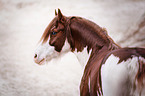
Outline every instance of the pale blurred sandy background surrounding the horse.
<svg viewBox="0 0 145 96">
<path fill-rule="evenodd" d="M 145 47 L 145 0 L 0 0 L 0 96 L 79 96 L 83 67 L 73 53 L 33 61 L 57 8 L 106 28 L 122 47 Z"/>
</svg>

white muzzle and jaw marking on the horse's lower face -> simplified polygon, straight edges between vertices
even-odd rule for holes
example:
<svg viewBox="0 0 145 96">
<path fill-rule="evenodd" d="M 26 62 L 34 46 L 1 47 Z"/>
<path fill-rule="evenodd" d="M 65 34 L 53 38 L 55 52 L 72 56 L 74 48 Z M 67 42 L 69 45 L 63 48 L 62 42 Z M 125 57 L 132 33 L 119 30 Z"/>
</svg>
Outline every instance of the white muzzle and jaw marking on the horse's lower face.
<svg viewBox="0 0 145 96">
<path fill-rule="evenodd" d="M 49 45 L 49 39 L 47 42 L 38 45 L 35 51 L 34 61 L 37 64 L 44 64 L 46 61 L 50 61 L 54 58 L 60 57 L 61 55 L 69 52 L 71 50 L 70 45 L 67 40 L 65 40 L 64 46 L 61 52 L 57 52 L 54 46 Z M 36 56 L 37 54 L 37 56 Z"/>
</svg>

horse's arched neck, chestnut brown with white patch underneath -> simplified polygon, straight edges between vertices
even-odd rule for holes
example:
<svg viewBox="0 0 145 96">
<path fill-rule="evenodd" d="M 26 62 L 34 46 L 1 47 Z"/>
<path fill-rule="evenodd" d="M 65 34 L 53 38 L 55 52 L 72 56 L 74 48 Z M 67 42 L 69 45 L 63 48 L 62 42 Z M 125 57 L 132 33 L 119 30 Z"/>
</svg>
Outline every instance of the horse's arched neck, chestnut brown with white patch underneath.
<svg viewBox="0 0 145 96">
<path fill-rule="evenodd" d="M 97 54 L 103 46 L 108 46 L 110 49 L 118 48 L 107 31 L 95 23 L 80 17 L 73 17 L 69 23 L 67 39 L 83 66 L 87 64 L 92 50 Z"/>
</svg>

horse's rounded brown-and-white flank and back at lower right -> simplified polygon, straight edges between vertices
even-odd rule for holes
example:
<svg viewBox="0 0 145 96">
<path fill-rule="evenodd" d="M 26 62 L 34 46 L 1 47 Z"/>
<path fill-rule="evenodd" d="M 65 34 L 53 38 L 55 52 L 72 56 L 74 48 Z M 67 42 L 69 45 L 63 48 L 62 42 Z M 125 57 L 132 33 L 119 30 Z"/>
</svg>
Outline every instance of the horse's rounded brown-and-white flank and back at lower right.
<svg viewBox="0 0 145 96">
<path fill-rule="evenodd" d="M 140 55 L 143 52 L 145 49 L 121 48 L 104 58 L 101 67 L 104 96 L 145 95 L 145 57 Z"/>
</svg>

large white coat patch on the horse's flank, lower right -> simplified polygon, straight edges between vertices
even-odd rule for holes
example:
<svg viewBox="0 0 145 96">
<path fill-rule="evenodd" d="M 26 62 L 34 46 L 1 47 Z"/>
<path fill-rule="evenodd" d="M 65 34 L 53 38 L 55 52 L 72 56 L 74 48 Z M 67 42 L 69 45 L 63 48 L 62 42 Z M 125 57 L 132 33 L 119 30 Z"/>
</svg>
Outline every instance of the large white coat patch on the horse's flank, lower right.
<svg viewBox="0 0 145 96">
<path fill-rule="evenodd" d="M 111 55 L 102 65 L 103 94 L 104 96 L 134 96 L 131 91 L 138 72 L 138 58 L 133 57 L 120 64 L 118 62 L 119 58 Z"/>
</svg>

